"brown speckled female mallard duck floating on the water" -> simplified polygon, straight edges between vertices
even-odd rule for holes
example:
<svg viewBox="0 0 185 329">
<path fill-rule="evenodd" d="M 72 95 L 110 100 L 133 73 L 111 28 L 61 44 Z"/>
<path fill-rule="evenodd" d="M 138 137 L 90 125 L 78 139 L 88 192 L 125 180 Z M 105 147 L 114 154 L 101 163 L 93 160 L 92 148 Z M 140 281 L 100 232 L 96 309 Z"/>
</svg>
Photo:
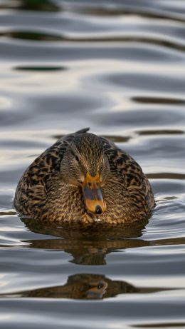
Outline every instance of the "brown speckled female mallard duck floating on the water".
<svg viewBox="0 0 185 329">
<path fill-rule="evenodd" d="M 64 136 L 23 173 L 18 213 L 39 221 L 131 223 L 154 208 L 147 177 L 134 159 L 88 128 Z"/>
</svg>

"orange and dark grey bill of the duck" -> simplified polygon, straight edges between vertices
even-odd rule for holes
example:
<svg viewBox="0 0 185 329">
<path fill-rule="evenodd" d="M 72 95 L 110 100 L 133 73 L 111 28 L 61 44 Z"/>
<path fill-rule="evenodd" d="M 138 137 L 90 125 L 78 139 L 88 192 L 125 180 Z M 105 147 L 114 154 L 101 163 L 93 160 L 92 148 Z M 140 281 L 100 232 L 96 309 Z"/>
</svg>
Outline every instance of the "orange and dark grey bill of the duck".
<svg viewBox="0 0 185 329">
<path fill-rule="evenodd" d="M 83 182 L 83 196 L 88 211 L 99 214 L 106 211 L 107 207 L 103 200 L 102 189 L 100 188 L 99 174 L 91 176 L 90 173 L 87 173 Z"/>
</svg>

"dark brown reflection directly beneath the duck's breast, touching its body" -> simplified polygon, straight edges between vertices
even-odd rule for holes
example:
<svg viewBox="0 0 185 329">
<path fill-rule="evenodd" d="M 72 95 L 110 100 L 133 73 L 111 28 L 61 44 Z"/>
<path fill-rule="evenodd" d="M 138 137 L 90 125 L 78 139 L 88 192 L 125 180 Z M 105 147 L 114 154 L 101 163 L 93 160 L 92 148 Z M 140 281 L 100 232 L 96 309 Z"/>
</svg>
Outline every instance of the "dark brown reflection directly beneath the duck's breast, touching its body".
<svg viewBox="0 0 185 329">
<path fill-rule="evenodd" d="M 29 248 L 63 250 L 72 255 L 70 262 L 80 265 L 105 265 L 106 255 L 113 250 L 149 245 L 149 241 L 139 238 L 147 219 L 132 226 L 103 226 L 95 223 L 93 226 L 63 224 L 58 227 L 43 225 L 28 218 L 22 221 L 34 233 L 58 237 L 26 241 L 30 243 Z"/>
</svg>

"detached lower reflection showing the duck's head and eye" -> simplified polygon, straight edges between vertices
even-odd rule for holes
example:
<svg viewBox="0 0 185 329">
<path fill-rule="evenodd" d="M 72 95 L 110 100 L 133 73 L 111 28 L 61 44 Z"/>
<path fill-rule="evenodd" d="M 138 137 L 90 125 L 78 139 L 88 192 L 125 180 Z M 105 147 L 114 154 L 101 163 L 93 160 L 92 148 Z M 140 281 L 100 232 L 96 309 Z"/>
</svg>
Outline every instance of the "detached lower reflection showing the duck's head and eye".
<svg viewBox="0 0 185 329">
<path fill-rule="evenodd" d="M 103 299 L 138 291 L 127 282 L 110 280 L 105 275 L 75 274 L 70 275 L 64 285 L 31 290 L 21 295 L 34 298 Z"/>
</svg>

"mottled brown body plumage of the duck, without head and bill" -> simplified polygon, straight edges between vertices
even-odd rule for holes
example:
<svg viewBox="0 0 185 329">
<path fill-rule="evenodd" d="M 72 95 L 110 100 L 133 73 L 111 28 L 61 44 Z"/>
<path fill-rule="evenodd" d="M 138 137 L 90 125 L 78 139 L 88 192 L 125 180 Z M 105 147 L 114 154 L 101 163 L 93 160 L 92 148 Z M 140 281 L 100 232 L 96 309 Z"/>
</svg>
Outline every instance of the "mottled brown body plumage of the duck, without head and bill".
<svg viewBox="0 0 185 329">
<path fill-rule="evenodd" d="M 87 151 L 88 161 L 91 153 L 96 152 L 97 146 L 93 145 L 95 135 L 87 131 L 88 129 L 83 129 L 58 139 L 33 161 L 16 188 L 14 206 L 18 213 L 39 221 L 56 223 L 131 223 L 152 211 L 154 196 L 142 169 L 131 156 L 103 137 L 98 137 L 98 141 L 110 164 L 110 173 L 102 186 L 107 210 L 100 215 L 87 211 L 80 187 L 64 183 L 60 175 L 60 164 L 75 138 L 90 140 L 90 146 L 85 143 L 87 146 L 83 148 L 84 153 Z M 92 166 L 95 166 L 93 161 Z"/>
</svg>

